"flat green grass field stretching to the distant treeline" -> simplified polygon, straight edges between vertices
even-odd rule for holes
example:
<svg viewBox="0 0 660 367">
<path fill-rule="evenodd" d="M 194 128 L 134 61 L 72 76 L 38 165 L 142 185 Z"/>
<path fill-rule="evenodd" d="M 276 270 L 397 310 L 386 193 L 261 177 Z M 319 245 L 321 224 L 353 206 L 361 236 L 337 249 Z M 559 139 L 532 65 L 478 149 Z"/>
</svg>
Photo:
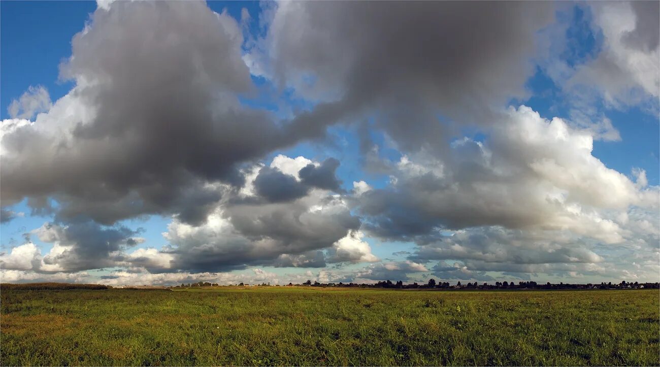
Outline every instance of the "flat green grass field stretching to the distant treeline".
<svg viewBox="0 0 660 367">
<path fill-rule="evenodd" d="M 659 292 L 3 290 L 12 365 L 658 366 Z"/>
</svg>

